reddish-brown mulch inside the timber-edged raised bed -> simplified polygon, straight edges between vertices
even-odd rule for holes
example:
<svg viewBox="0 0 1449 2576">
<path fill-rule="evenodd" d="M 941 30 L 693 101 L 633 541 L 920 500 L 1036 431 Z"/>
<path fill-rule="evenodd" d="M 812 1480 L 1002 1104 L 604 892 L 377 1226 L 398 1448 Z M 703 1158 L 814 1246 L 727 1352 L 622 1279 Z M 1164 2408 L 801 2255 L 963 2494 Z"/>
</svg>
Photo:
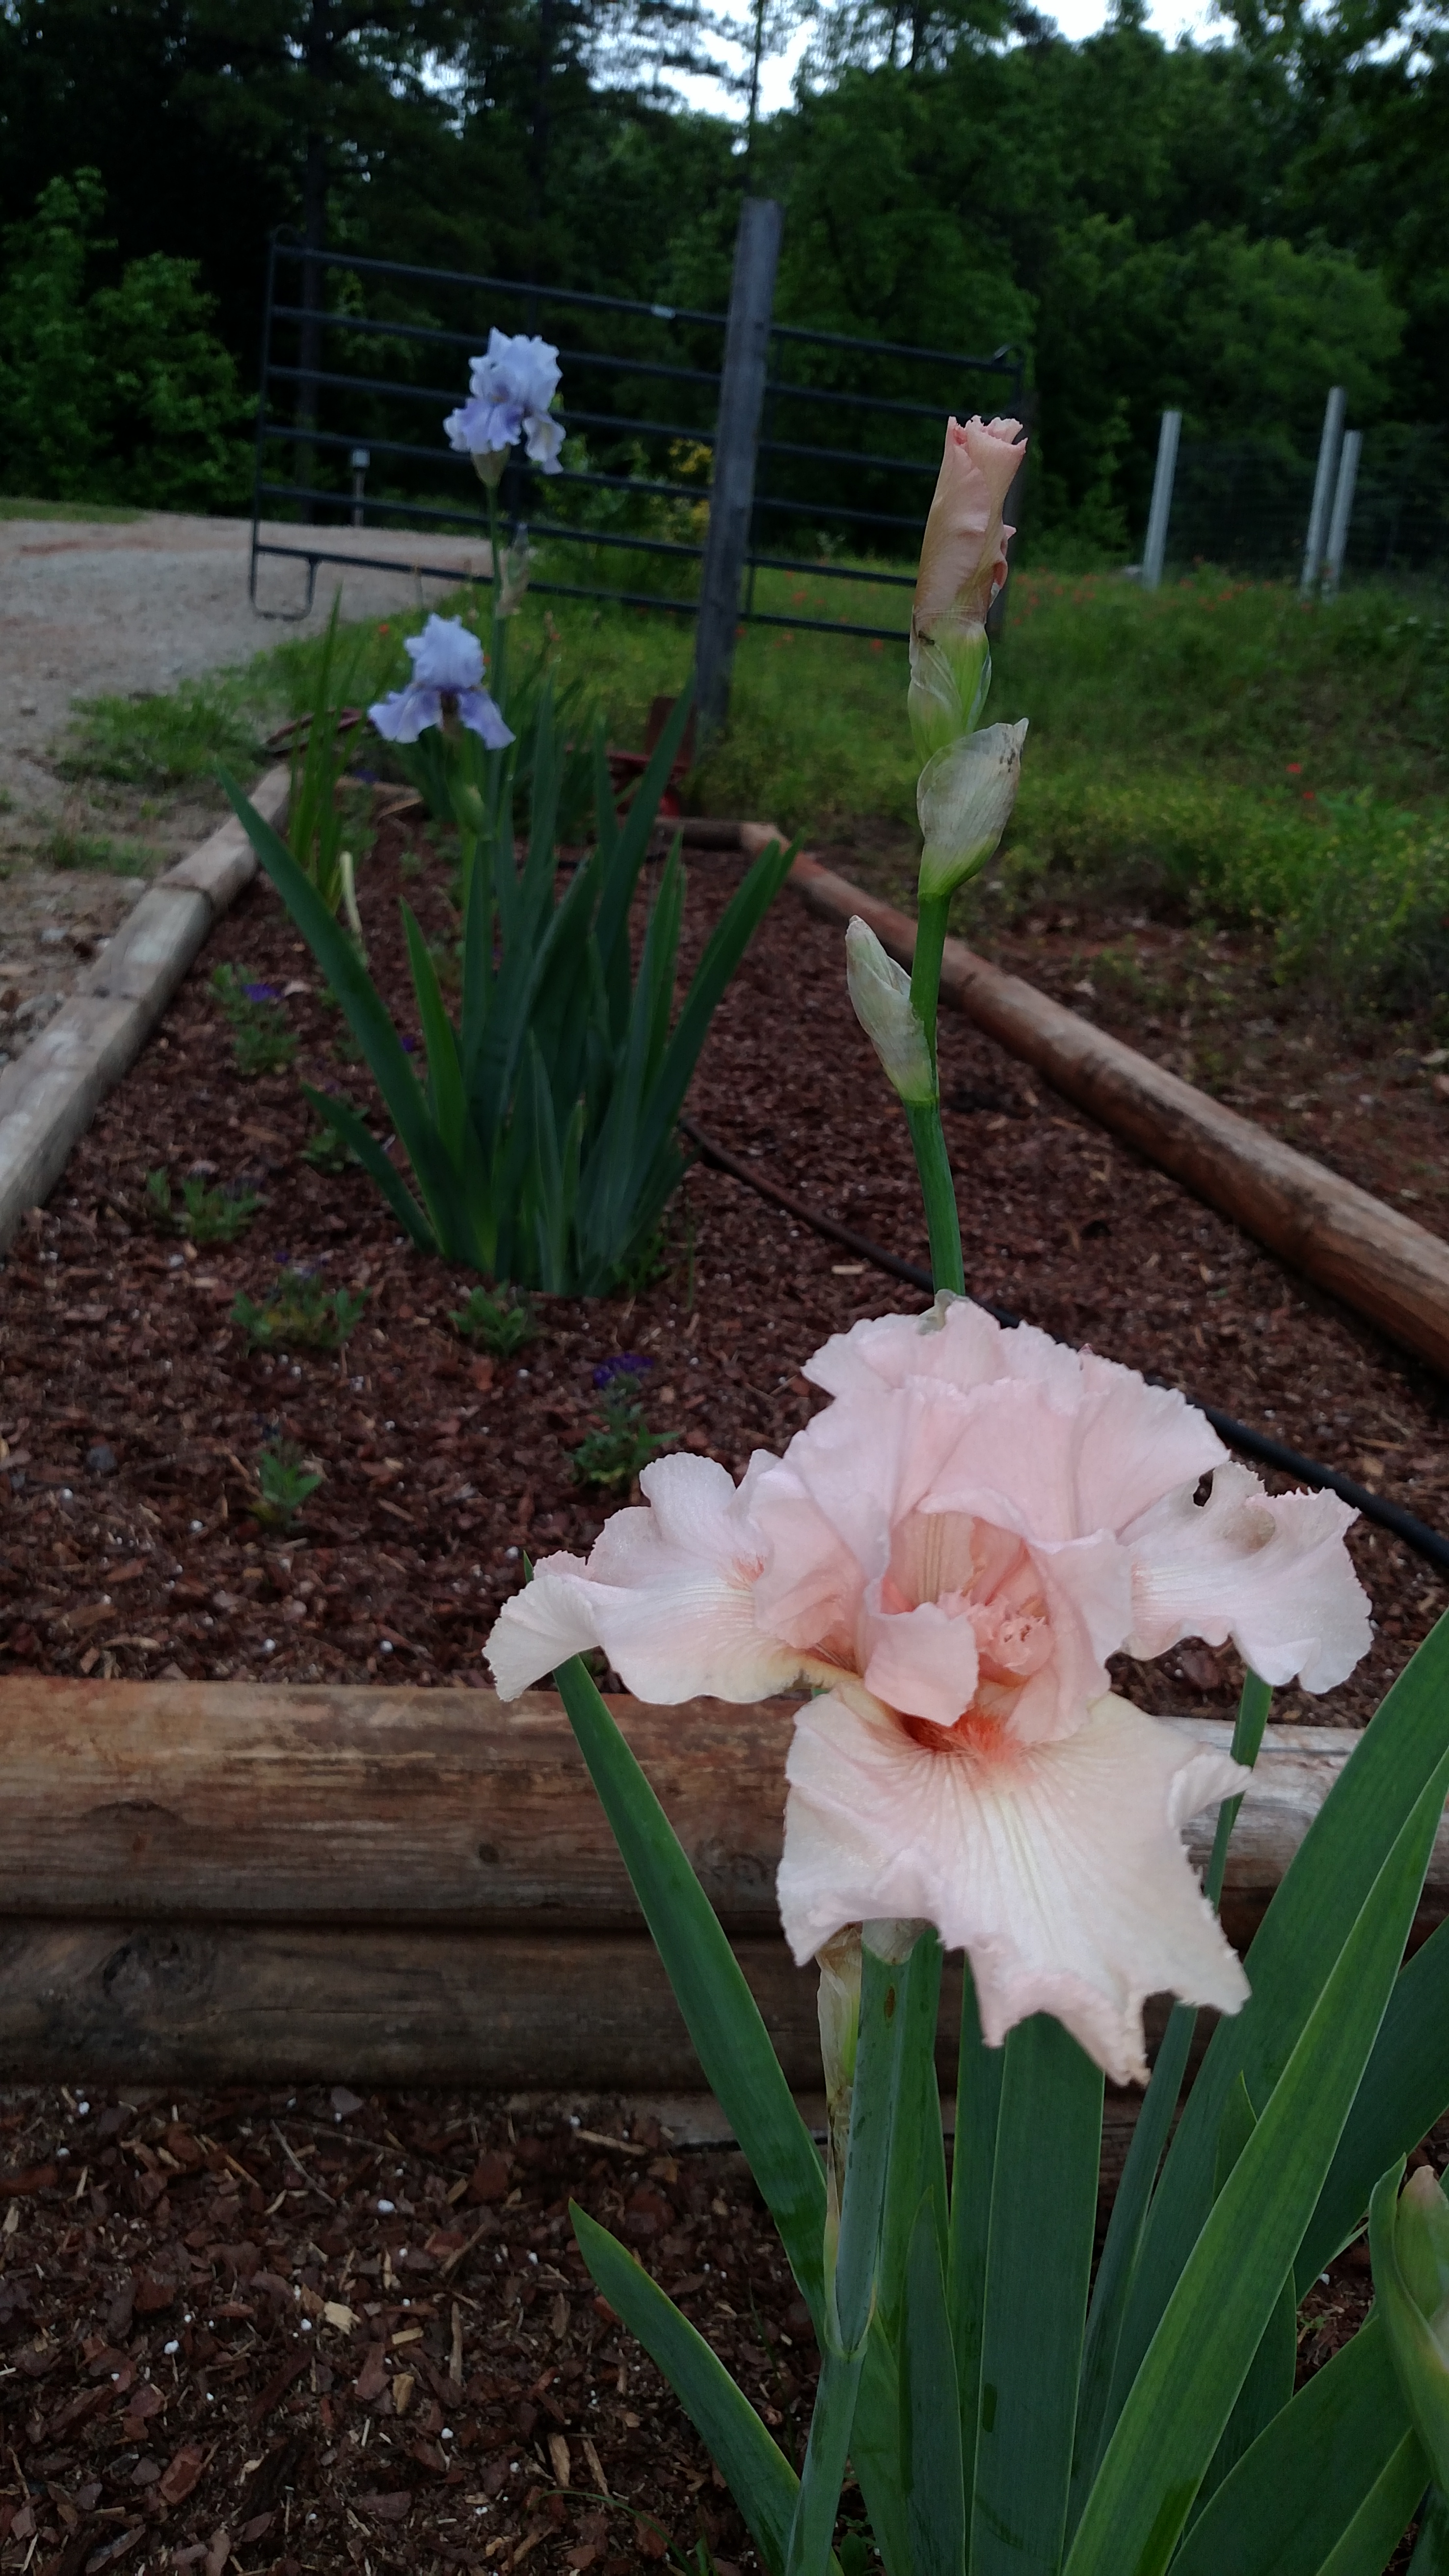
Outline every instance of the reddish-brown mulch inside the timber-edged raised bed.
<svg viewBox="0 0 1449 2576">
<path fill-rule="evenodd" d="M 735 876 L 735 860 L 694 863 L 694 945 Z M 397 891 L 446 938 L 443 863 L 425 853 L 418 873 L 384 827 L 364 904 L 374 971 L 407 1028 Z M 286 992 L 291 1072 L 237 1074 L 209 989 L 224 961 Z M 1049 943 L 1042 971 L 1057 971 Z M 810 1417 L 799 1363 L 825 1334 L 913 1303 L 696 1167 L 652 1283 L 608 1301 L 539 1298 L 539 1337 L 492 1363 L 449 1324 L 469 1278 L 410 1252 L 356 1170 L 302 1162 L 312 1113 L 299 1074 L 343 1087 L 379 1123 L 340 1036 L 309 953 L 271 891 L 253 889 L 15 1242 L 0 1303 L 0 1674 L 477 1685 L 521 1548 L 588 1548 L 624 1499 L 583 1489 L 570 1463 L 598 1419 L 598 1368 L 647 1363 L 650 1425 L 740 1473 L 750 1448 L 779 1450 Z M 954 1012 L 941 1043 L 967 1278 L 982 1296 L 1449 1528 L 1444 1386 L 1426 1368 Z M 926 1257 L 905 1126 L 851 1018 L 841 933 L 789 894 L 719 1010 L 691 1108 L 812 1206 Z M 1410 1110 L 1426 1115 L 1418 1095 L 1403 1110 L 1385 1095 L 1379 1131 Z M 183 1252 L 144 1213 L 144 1175 L 160 1164 L 175 1182 L 196 1170 L 260 1190 L 263 1211 L 237 1244 Z M 232 1298 L 263 1298 L 278 1262 L 366 1288 L 343 1358 L 248 1355 Z M 325 1471 L 294 1535 L 250 1517 L 255 1455 L 276 1435 Z M 1359 1723 L 1441 1607 L 1441 1577 L 1397 1540 L 1359 1528 L 1351 1546 L 1377 1646 L 1338 1692 L 1284 1692 L 1284 1718 Z M 1227 1713 L 1238 1677 L 1230 1654 L 1186 1646 L 1129 1687 L 1147 1705 Z"/>
</svg>

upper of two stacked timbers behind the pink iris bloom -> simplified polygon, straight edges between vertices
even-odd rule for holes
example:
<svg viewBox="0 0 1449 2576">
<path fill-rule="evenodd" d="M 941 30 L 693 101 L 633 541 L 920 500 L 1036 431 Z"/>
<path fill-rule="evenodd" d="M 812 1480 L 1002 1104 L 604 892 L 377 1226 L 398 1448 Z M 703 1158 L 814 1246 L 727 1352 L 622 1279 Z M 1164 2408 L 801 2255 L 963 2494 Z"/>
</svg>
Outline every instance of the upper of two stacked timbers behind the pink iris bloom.
<svg viewBox="0 0 1449 2576">
<path fill-rule="evenodd" d="M 616 1700 L 730 1932 L 773 1935 L 792 1703 Z M 1209 1744 L 1230 1728 L 1183 1721 Z M 1271 1726 L 1227 1865 L 1248 1937 L 1354 1736 Z M 62 1922 L 632 1932 L 629 1880 L 552 1692 L 0 1685 L 0 1904 Z M 1189 1826 L 1204 1860 L 1212 1814 Z M 1449 1911 L 1449 1824 L 1421 1927 Z"/>
</svg>

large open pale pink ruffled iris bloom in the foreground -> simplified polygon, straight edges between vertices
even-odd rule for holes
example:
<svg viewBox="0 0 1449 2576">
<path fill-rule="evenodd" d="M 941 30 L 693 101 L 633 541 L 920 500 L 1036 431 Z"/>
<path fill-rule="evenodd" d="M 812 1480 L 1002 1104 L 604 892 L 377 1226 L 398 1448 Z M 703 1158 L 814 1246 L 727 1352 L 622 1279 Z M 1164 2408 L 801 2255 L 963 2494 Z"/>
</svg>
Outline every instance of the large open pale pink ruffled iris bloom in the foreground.
<svg viewBox="0 0 1449 2576">
<path fill-rule="evenodd" d="M 1106 1659 L 1232 1638 L 1328 1690 L 1369 1643 L 1354 1515 L 1263 1494 L 1183 1396 L 967 1298 L 856 1324 L 807 1376 L 835 1401 L 784 1458 L 740 1486 L 657 1458 L 588 1564 L 539 1564 L 490 1636 L 498 1690 L 588 1646 L 642 1700 L 817 1685 L 786 1765 L 797 1960 L 920 1917 L 969 1953 L 993 2045 L 1052 2012 L 1142 2076 L 1150 1994 L 1248 1994 L 1181 1839 L 1248 1772 L 1114 1698 Z"/>
</svg>

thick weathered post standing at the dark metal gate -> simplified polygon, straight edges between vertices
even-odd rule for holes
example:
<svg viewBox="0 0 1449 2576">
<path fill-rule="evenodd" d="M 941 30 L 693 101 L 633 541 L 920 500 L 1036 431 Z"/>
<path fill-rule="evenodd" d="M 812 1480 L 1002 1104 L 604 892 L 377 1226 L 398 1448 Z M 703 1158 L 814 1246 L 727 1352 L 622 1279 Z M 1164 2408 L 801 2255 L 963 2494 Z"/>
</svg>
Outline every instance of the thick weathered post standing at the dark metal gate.
<svg viewBox="0 0 1449 2576">
<path fill-rule="evenodd" d="M 766 361 L 781 209 L 771 196 L 748 196 L 735 234 L 735 278 L 724 325 L 719 374 L 719 425 L 714 433 L 714 484 L 709 533 L 699 577 L 699 634 L 694 647 L 699 734 L 719 732 L 730 714 L 730 665 L 740 618 L 740 572 L 750 544 L 755 502 L 755 448 L 766 399 Z"/>
</svg>

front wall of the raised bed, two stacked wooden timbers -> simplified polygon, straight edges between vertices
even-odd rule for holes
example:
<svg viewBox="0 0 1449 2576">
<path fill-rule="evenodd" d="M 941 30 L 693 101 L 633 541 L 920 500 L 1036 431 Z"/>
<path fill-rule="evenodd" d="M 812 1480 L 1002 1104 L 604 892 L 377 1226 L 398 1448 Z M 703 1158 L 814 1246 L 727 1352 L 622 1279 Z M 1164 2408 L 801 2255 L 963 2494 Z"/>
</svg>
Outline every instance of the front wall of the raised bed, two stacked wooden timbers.
<svg viewBox="0 0 1449 2576">
<path fill-rule="evenodd" d="M 794 1703 L 611 1705 L 815 2089 L 815 1973 L 773 1901 Z M 1354 1741 L 1269 1728 L 1222 1901 L 1240 1945 Z M 699 2089 L 552 1692 L 15 1677 L 0 1759 L 5 2079 Z M 1194 1862 L 1209 1842 L 1199 1816 Z M 1441 1826 L 1418 1937 L 1446 1911 Z M 959 1968 L 944 2079 L 957 2020 Z"/>
</svg>

